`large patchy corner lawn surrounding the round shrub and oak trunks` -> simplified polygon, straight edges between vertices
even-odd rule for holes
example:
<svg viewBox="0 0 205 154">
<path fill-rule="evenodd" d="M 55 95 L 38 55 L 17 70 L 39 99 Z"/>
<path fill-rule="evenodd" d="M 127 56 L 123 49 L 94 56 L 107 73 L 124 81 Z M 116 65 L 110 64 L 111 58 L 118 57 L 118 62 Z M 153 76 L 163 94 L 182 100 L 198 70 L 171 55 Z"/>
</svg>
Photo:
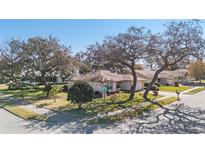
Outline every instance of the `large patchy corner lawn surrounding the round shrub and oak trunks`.
<svg viewBox="0 0 205 154">
<path fill-rule="evenodd" d="M 60 85 L 62 86 L 62 85 Z M 52 97 L 45 97 L 42 89 L 30 89 L 30 90 L 7 90 L 1 89 L 0 92 L 11 95 L 15 98 L 24 99 L 27 102 L 30 102 L 37 107 L 44 107 L 51 110 L 56 110 L 60 112 L 64 112 L 68 116 L 73 117 L 85 117 L 94 114 L 100 114 L 104 112 L 112 112 L 115 110 L 119 110 L 122 107 L 133 107 L 138 105 L 139 103 L 144 102 L 143 93 L 136 92 L 134 99 L 132 101 L 128 101 L 123 103 L 122 105 L 119 104 L 121 101 L 126 101 L 129 97 L 128 93 L 120 92 L 118 94 L 108 96 L 106 99 L 99 98 L 94 99 L 91 102 L 82 105 L 83 110 L 79 111 L 76 104 L 73 104 L 67 101 L 67 93 L 58 93 L 56 96 L 56 102 L 54 102 Z M 23 96 L 23 97 L 22 97 Z M 160 98 L 163 96 L 158 96 Z M 150 93 L 148 98 L 154 99 L 155 97 Z"/>
</svg>

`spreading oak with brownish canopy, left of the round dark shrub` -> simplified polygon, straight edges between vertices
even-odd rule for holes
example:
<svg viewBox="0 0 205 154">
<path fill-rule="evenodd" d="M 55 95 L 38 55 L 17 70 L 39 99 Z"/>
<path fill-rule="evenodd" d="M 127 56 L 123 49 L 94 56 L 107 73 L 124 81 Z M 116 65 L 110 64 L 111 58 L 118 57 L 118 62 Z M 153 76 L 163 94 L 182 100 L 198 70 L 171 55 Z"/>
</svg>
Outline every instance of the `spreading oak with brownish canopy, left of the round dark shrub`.
<svg viewBox="0 0 205 154">
<path fill-rule="evenodd" d="M 49 36 L 48 38 L 29 38 L 23 45 L 24 56 L 27 59 L 27 74 L 33 81 L 40 81 L 49 95 L 50 82 L 53 77 L 66 78 L 72 74 L 75 61 L 71 50 Z"/>
</svg>

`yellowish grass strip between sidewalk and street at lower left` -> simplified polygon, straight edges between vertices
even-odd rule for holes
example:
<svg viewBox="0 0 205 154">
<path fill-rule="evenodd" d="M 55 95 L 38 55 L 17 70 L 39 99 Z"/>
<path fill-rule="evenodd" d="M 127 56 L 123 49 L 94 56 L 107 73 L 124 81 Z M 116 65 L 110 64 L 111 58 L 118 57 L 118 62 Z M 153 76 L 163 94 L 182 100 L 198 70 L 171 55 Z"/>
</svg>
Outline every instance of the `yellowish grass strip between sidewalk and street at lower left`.
<svg viewBox="0 0 205 154">
<path fill-rule="evenodd" d="M 12 103 L 8 102 L 8 101 L 2 101 L 0 103 L 0 107 L 6 109 L 7 111 L 11 112 L 12 114 L 28 120 L 28 119 L 35 119 L 35 120 L 46 120 L 46 117 L 43 115 L 40 115 L 38 113 L 35 113 L 33 111 L 24 109 L 22 107 L 13 105 Z"/>
</svg>

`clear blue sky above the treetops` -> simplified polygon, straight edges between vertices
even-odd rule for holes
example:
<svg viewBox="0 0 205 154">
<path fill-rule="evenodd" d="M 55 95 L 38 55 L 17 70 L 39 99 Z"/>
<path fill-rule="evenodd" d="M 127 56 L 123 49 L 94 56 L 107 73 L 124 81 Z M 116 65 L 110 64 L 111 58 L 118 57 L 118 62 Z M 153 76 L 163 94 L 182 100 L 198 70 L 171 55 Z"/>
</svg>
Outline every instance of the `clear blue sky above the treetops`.
<svg viewBox="0 0 205 154">
<path fill-rule="evenodd" d="M 71 45 L 73 53 L 83 51 L 107 35 L 125 32 L 129 26 L 144 26 L 157 33 L 164 30 L 170 20 L 0 20 L 0 42 L 10 38 L 25 40 L 28 37 L 49 35 L 62 44 Z M 205 24 L 202 23 L 205 28 Z"/>
</svg>

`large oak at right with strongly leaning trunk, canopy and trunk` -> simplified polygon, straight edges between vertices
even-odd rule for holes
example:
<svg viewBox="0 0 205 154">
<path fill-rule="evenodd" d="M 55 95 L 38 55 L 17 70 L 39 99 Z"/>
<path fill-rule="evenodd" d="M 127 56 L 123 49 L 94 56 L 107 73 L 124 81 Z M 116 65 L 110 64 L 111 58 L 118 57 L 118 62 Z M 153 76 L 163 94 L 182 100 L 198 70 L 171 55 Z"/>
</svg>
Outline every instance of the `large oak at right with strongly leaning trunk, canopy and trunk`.
<svg viewBox="0 0 205 154">
<path fill-rule="evenodd" d="M 163 70 L 180 68 L 185 60 L 200 59 L 205 49 L 202 27 L 198 21 L 174 21 L 166 28 L 161 35 L 151 35 L 146 48 L 145 61 L 156 70 L 144 93 L 146 100 L 149 100 L 147 95 Z"/>
</svg>

